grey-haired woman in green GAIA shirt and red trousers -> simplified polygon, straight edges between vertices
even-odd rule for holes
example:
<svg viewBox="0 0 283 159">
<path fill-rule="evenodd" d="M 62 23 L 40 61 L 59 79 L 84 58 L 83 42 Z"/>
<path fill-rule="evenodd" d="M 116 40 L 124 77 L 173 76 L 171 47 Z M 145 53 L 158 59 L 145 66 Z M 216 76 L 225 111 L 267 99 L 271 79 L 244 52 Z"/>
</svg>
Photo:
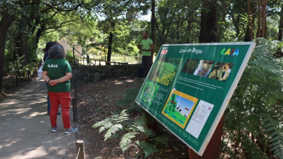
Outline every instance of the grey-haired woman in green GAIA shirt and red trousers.
<svg viewBox="0 0 283 159">
<path fill-rule="evenodd" d="M 73 128 L 70 121 L 71 104 L 71 84 L 70 79 L 73 76 L 73 70 L 69 62 L 65 59 L 64 48 L 60 44 L 53 45 L 49 49 L 49 60 L 43 65 L 42 78 L 48 82 L 48 95 L 51 103 L 50 121 L 51 132 L 59 129 L 57 125 L 57 113 L 59 103 L 61 104 L 62 120 L 65 128 L 65 134 L 77 132 L 78 128 Z"/>
</svg>

